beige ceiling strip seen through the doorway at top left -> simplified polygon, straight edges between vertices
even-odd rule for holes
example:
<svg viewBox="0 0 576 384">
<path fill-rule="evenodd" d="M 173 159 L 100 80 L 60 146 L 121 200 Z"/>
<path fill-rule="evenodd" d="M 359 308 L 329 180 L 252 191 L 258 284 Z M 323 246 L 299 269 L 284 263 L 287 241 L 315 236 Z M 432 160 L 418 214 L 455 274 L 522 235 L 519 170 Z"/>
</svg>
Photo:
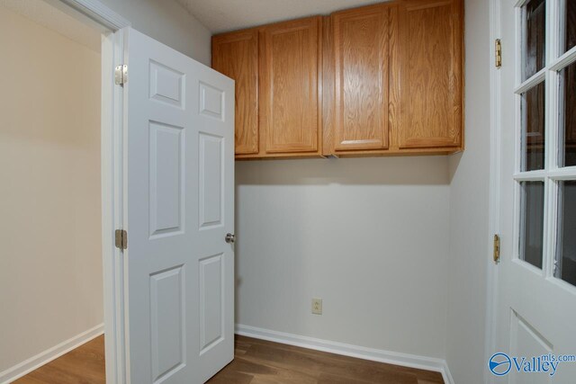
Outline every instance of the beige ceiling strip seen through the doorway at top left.
<svg viewBox="0 0 576 384">
<path fill-rule="evenodd" d="M 0 0 L 0 6 L 19 13 L 32 22 L 37 22 L 70 40 L 75 40 L 88 49 L 100 52 L 102 44 L 100 31 L 78 21 L 76 17 L 65 13 L 62 9 L 58 9 L 55 6 L 58 3 L 50 0 Z"/>
</svg>

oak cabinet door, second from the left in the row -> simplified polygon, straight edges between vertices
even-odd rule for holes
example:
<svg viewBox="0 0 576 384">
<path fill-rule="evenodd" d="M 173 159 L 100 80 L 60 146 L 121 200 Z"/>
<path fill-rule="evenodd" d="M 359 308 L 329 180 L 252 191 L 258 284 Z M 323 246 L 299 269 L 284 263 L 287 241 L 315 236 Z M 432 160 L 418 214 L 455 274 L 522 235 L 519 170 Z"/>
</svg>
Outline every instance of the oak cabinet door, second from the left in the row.
<svg viewBox="0 0 576 384">
<path fill-rule="evenodd" d="M 260 127 L 266 153 L 319 150 L 320 17 L 263 27 Z"/>
</svg>

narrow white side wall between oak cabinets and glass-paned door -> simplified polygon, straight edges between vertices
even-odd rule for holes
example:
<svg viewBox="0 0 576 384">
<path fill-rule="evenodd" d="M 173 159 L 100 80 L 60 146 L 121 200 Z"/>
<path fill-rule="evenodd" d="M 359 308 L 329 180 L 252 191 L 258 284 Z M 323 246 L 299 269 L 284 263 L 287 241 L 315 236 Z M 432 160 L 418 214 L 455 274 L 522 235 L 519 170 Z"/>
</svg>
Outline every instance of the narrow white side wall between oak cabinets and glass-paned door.
<svg viewBox="0 0 576 384">
<path fill-rule="evenodd" d="M 450 262 L 446 361 L 456 383 L 480 383 L 490 254 L 490 13 L 465 2 L 466 149 L 450 158 Z"/>
</svg>

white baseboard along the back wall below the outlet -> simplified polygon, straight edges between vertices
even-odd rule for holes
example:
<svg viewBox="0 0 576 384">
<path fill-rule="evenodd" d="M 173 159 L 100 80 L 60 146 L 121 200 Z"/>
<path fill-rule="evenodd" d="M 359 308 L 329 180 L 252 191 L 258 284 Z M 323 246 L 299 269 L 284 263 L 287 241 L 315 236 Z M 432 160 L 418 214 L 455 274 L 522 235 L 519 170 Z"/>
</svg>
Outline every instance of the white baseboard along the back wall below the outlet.
<svg viewBox="0 0 576 384">
<path fill-rule="evenodd" d="M 454 384 L 450 370 L 448 370 L 448 365 L 446 361 L 442 359 L 366 348 L 359 345 L 343 344 L 308 336 L 286 334 L 284 332 L 272 331 L 256 326 L 243 326 L 241 324 L 236 325 L 236 334 L 322 352 L 357 357 L 374 362 L 386 362 L 403 367 L 417 368 L 419 370 L 437 371 L 442 374 L 446 384 Z"/>
</svg>

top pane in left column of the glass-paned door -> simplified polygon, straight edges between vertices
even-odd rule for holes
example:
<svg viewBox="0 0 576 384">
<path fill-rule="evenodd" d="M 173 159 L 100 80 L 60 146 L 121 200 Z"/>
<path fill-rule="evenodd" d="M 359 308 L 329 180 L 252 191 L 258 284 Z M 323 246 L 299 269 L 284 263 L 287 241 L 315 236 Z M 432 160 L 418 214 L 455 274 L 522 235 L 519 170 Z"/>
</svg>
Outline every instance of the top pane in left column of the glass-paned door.
<svg viewBox="0 0 576 384">
<path fill-rule="evenodd" d="M 525 51 L 524 76 L 526 80 L 545 67 L 546 3 L 545 0 L 530 0 L 524 5 Z"/>
</svg>

